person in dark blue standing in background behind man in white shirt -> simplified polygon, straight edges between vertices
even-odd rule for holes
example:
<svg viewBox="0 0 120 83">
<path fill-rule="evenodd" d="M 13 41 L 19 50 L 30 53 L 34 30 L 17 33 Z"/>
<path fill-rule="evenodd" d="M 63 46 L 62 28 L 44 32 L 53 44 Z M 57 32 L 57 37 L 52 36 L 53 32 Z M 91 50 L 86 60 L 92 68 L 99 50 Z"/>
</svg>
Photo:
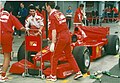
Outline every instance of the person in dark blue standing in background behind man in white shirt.
<svg viewBox="0 0 120 83">
<path fill-rule="evenodd" d="M 28 13 L 27 13 L 27 9 L 24 6 L 24 3 L 20 3 L 20 8 L 18 11 L 17 18 L 22 23 L 22 25 L 25 25 L 25 19 L 26 19 L 27 15 L 28 15 Z M 20 37 L 21 37 L 21 31 L 18 30 L 18 38 L 20 38 Z"/>
</svg>

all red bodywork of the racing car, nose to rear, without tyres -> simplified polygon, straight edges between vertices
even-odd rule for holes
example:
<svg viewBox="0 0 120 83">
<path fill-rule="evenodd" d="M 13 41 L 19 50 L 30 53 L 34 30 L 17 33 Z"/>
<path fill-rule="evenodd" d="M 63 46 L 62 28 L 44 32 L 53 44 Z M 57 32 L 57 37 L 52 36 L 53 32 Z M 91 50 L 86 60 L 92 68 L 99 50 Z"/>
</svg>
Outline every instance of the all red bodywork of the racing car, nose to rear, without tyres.
<svg viewBox="0 0 120 83">
<path fill-rule="evenodd" d="M 83 38 L 81 35 L 82 29 L 87 37 Z M 74 49 L 76 46 L 87 46 L 92 48 L 92 53 L 91 53 L 91 61 L 94 59 L 97 59 L 101 57 L 101 48 L 102 46 L 106 45 L 108 43 L 107 40 L 107 35 L 109 35 L 109 27 L 93 27 L 93 26 L 79 26 L 75 27 L 73 34 L 71 34 L 71 37 L 73 35 L 77 35 L 77 41 L 71 43 L 71 48 Z M 40 61 L 41 52 L 38 52 L 36 56 L 33 57 L 33 63 L 28 62 L 28 68 L 30 69 L 40 69 L 40 66 L 36 66 L 37 61 Z M 64 56 L 63 52 L 63 57 L 59 59 L 59 61 L 62 64 L 59 64 L 57 67 L 57 77 L 58 78 L 66 78 L 67 76 L 71 75 L 74 73 L 72 66 L 69 65 L 67 62 L 67 59 Z M 43 73 L 47 76 L 50 74 L 50 67 L 46 68 L 44 65 L 45 61 L 50 61 L 50 58 L 52 56 L 52 53 L 49 51 L 49 47 L 45 47 L 42 49 L 42 70 Z M 24 67 L 24 62 L 25 60 L 21 60 L 17 63 L 14 63 L 11 68 L 10 68 L 10 73 L 16 73 L 16 74 L 22 74 L 25 72 L 25 67 Z"/>
</svg>

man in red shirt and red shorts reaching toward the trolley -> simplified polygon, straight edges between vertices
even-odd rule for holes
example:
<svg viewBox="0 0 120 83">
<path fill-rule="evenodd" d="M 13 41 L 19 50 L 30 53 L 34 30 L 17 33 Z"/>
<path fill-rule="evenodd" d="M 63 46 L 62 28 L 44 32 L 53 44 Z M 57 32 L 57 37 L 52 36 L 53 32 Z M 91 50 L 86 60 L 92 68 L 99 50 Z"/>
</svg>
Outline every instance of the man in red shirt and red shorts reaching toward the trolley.
<svg viewBox="0 0 120 83">
<path fill-rule="evenodd" d="M 13 26 L 18 30 L 25 30 L 23 25 L 18 19 L 12 15 L 12 6 L 9 2 L 5 3 L 4 10 L 0 12 L 0 45 L 2 47 L 4 61 L 2 71 L 0 72 L 0 82 L 6 81 L 6 72 L 10 65 L 10 55 L 12 51 L 12 40 L 13 40 Z"/>
</svg>

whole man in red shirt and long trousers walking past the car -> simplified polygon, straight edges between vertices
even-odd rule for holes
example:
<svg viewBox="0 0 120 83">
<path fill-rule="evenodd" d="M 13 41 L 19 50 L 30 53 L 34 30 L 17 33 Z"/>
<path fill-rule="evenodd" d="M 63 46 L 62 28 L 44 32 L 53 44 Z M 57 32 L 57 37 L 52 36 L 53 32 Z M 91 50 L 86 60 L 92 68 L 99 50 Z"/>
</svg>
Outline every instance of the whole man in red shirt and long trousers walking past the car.
<svg viewBox="0 0 120 83">
<path fill-rule="evenodd" d="M 76 72 L 74 79 L 82 77 L 82 73 L 71 53 L 71 37 L 70 32 L 66 24 L 65 16 L 54 9 L 55 2 L 50 1 L 46 2 L 46 10 L 49 13 L 48 19 L 48 29 L 49 29 L 49 38 L 52 43 L 50 45 L 50 51 L 53 52 L 51 57 L 51 74 L 47 76 L 47 80 L 56 81 L 56 69 L 58 64 L 58 59 L 61 57 L 62 52 L 65 52 L 65 56 L 68 59 L 68 62 L 73 66 L 72 68 Z"/>
</svg>

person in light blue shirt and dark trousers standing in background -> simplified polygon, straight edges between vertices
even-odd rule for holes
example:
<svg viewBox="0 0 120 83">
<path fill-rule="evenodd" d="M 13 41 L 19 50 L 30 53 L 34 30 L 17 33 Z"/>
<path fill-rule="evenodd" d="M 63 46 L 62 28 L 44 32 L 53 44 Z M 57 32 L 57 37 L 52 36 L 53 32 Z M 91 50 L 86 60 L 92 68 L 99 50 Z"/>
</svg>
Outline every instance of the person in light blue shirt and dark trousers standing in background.
<svg viewBox="0 0 120 83">
<path fill-rule="evenodd" d="M 69 30 L 71 28 L 71 20 L 72 20 L 72 14 L 73 14 L 73 11 L 71 10 L 71 6 L 68 6 L 68 10 L 66 11 L 66 22 L 67 22 L 67 25 L 69 27 Z"/>
</svg>

